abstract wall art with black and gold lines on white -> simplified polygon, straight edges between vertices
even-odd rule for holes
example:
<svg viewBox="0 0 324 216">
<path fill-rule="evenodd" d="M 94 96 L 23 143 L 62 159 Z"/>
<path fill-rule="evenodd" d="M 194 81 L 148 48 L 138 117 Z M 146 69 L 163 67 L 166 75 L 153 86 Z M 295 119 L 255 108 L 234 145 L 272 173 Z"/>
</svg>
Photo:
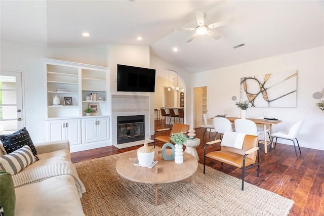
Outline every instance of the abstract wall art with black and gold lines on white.
<svg viewBox="0 0 324 216">
<path fill-rule="evenodd" d="M 252 107 L 296 107 L 297 70 L 241 78 L 240 101 Z"/>
</svg>

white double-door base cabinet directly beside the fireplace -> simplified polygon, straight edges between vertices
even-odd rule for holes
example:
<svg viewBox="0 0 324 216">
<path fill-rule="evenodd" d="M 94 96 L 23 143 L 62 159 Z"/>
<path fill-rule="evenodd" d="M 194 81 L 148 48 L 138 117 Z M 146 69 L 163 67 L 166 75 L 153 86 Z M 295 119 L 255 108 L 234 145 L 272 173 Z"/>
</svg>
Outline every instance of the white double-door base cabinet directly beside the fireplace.
<svg viewBox="0 0 324 216">
<path fill-rule="evenodd" d="M 83 143 L 109 140 L 109 134 L 109 117 L 82 119 Z"/>
</svg>

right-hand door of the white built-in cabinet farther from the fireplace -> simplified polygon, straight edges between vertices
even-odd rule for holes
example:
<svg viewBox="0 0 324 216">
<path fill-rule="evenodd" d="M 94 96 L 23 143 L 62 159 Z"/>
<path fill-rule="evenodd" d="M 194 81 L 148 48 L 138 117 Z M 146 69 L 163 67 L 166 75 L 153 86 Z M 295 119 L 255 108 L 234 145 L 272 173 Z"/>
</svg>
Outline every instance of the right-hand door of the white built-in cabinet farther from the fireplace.
<svg viewBox="0 0 324 216">
<path fill-rule="evenodd" d="M 81 122 L 80 119 L 71 119 L 65 123 L 65 139 L 69 140 L 70 145 L 81 143 Z"/>
</svg>

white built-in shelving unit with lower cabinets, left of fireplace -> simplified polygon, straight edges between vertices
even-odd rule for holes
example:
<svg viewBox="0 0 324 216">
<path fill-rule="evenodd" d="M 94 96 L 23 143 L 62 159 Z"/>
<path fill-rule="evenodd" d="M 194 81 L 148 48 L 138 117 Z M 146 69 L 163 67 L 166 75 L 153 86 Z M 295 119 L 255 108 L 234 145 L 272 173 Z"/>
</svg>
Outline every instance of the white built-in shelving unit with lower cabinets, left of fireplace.
<svg viewBox="0 0 324 216">
<path fill-rule="evenodd" d="M 48 141 L 68 139 L 71 151 L 102 147 L 103 143 L 105 143 L 104 145 L 109 144 L 108 67 L 47 58 L 42 58 L 42 61 L 47 83 Z M 87 96 L 91 95 L 97 97 L 87 100 Z M 54 96 L 59 97 L 60 105 L 53 105 Z M 72 105 L 64 104 L 64 98 L 72 99 Z M 96 100 L 94 101 L 94 99 Z M 96 105 L 98 113 L 86 116 L 85 110 L 89 105 Z M 95 128 L 91 128 L 89 123 L 86 125 L 89 120 L 94 122 Z M 104 125 L 99 126 L 102 122 Z M 98 134 L 99 132 L 100 134 Z M 94 139 L 91 138 L 92 136 Z"/>
</svg>

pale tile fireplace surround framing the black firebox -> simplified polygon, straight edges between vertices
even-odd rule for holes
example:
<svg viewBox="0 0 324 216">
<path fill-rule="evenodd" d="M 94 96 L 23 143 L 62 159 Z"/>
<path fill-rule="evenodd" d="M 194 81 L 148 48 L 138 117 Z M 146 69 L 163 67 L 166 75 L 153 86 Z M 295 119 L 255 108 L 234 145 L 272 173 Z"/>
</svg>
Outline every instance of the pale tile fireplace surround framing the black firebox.
<svg viewBox="0 0 324 216">
<path fill-rule="evenodd" d="M 118 149 L 142 145 L 150 140 L 150 97 L 149 95 L 111 95 L 112 145 Z M 117 116 L 144 115 L 145 140 L 117 145 Z"/>
</svg>

